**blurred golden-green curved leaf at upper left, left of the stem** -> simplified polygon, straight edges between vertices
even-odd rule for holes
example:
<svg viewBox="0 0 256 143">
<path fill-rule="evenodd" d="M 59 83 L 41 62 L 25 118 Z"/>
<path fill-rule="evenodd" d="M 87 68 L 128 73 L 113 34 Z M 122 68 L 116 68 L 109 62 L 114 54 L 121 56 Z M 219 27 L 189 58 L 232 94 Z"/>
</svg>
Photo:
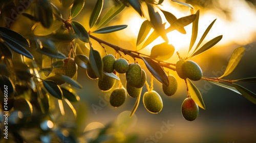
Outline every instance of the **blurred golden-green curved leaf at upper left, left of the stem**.
<svg viewBox="0 0 256 143">
<path fill-rule="evenodd" d="M 52 25 L 49 28 L 45 28 L 44 26 L 39 24 L 35 27 L 35 29 L 33 30 L 33 33 L 36 36 L 47 36 L 56 32 L 62 25 L 63 25 L 63 22 L 59 20 L 54 20 Z"/>
</svg>

